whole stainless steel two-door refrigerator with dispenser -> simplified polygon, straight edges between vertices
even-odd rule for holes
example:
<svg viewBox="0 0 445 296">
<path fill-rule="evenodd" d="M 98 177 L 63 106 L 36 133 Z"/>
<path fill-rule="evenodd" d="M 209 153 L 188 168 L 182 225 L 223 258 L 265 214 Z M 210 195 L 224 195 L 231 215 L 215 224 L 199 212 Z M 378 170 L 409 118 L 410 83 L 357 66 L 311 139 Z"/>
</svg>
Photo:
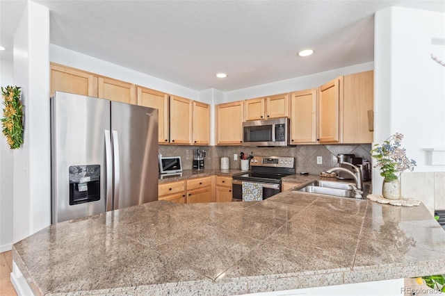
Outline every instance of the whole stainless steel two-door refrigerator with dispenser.
<svg viewBox="0 0 445 296">
<path fill-rule="evenodd" d="M 158 110 L 51 97 L 51 222 L 158 199 Z"/>
</svg>

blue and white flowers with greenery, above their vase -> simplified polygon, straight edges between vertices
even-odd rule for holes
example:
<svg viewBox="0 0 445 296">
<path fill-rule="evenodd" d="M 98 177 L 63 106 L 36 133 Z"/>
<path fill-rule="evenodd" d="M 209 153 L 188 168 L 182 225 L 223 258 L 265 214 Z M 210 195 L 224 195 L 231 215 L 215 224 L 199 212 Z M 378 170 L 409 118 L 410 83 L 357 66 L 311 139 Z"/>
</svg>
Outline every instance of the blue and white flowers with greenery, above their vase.
<svg viewBox="0 0 445 296">
<path fill-rule="evenodd" d="M 403 135 L 394 133 L 382 145 L 375 144 L 371 156 L 377 159 L 374 167 L 382 170 L 380 176 L 386 181 L 398 179 L 405 170 L 413 171 L 416 161 L 408 159 L 405 148 L 401 147 Z"/>
</svg>

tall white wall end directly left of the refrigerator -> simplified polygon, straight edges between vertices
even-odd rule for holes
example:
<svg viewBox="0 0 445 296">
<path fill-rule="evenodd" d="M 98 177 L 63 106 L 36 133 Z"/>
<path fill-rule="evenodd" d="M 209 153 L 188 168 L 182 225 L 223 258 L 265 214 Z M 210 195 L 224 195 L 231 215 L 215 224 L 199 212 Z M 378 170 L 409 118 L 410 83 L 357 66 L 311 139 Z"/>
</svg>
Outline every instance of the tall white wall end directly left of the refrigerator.
<svg viewBox="0 0 445 296">
<path fill-rule="evenodd" d="M 28 1 L 14 35 L 14 83 L 22 87 L 24 145 L 14 151 L 13 242 L 51 223 L 49 10 Z"/>
</svg>

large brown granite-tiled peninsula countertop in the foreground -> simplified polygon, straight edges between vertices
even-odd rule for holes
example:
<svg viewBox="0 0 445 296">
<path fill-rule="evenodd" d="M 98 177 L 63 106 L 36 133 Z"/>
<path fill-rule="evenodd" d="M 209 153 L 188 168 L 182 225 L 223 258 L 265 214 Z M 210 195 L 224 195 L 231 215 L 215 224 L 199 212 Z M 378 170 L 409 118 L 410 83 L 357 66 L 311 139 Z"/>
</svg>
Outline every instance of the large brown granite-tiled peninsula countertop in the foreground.
<svg viewBox="0 0 445 296">
<path fill-rule="evenodd" d="M 444 274 L 445 231 L 423 204 L 288 190 L 61 222 L 13 261 L 35 295 L 236 295 Z"/>
</svg>

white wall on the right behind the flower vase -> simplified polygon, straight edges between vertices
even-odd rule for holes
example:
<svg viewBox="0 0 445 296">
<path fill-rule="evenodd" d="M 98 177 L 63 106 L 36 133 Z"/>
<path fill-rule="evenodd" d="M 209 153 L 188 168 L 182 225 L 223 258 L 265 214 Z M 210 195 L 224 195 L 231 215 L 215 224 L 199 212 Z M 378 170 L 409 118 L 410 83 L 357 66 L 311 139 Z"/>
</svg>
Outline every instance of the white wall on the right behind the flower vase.
<svg viewBox="0 0 445 296">
<path fill-rule="evenodd" d="M 445 39 L 442 13 L 392 7 L 375 14 L 374 141 L 403 133 L 414 172 L 445 171 L 428 165 L 423 151 L 445 147 L 445 67 L 430 58 L 433 38 Z M 374 170 L 373 188 L 381 183 Z"/>
</svg>

